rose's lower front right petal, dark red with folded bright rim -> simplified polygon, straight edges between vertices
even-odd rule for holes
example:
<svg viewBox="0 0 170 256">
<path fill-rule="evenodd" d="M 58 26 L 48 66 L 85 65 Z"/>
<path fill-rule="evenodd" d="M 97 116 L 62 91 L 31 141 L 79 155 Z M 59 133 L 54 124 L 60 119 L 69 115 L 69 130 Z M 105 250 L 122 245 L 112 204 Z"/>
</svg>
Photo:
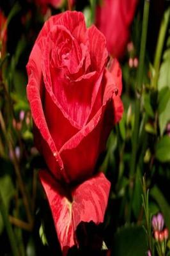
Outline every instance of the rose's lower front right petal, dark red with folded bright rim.
<svg viewBox="0 0 170 256">
<path fill-rule="evenodd" d="M 107 83 L 105 86 L 102 107 L 89 123 L 59 150 L 70 180 L 86 179 L 94 172 L 98 156 L 104 150 L 107 136 L 112 129 L 113 93 L 114 86 L 111 81 L 111 84 Z"/>
</svg>

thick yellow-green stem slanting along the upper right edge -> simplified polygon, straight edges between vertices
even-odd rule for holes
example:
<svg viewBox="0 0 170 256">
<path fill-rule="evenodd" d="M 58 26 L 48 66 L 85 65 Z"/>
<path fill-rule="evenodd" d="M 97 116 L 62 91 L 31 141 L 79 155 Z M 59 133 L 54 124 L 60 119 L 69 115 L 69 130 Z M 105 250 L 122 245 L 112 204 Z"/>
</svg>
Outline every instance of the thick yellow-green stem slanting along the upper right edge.
<svg viewBox="0 0 170 256">
<path fill-rule="evenodd" d="M 164 13 L 164 17 L 162 19 L 159 34 L 158 34 L 158 42 L 157 42 L 157 48 L 156 48 L 156 52 L 155 52 L 155 60 L 153 63 L 154 74 L 153 74 L 153 79 L 151 81 L 151 86 L 153 88 L 157 88 L 160 60 L 161 60 L 161 56 L 162 56 L 162 50 L 164 47 L 166 31 L 167 31 L 168 24 L 169 24 L 169 15 L 170 15 L 170 8 L 168 8 L 166 10 L 166 12 Z"/>
</svg>

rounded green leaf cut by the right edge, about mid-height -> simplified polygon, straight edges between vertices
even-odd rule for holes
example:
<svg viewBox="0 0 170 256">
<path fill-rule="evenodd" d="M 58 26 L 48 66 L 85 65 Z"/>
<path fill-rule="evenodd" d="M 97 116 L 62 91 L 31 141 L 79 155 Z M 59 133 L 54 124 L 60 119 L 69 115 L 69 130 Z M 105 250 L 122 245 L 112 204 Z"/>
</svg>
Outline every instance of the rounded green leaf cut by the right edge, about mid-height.
<svg viewBox="0 0 170 256">
<path fill-rule="evenodd" d="M 156 145 L 156 158 L 160 162 L 169 162 L 170 161 L 170 137 L 164 136 L 160 138 Z"/>
</svg>

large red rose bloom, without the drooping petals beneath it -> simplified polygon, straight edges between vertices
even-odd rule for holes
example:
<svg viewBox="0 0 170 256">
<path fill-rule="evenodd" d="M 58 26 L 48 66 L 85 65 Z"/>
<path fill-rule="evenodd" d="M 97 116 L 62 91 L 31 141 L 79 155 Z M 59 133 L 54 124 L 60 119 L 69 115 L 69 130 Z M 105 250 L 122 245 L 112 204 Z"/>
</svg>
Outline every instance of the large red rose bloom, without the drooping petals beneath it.
<svg viewBox="0 0 170 256">
<path fill-rule="evenodd" d="M 120 66 L 114 61 L 109 72 L 106 62 L 105 37 L 95 26 L 86 29 L 79 12 L 51 17 L 35 42 L 27 97 L 36 146 L 57 179 L 91 176 L 113 120 L 121 118 Z"/>
</svg>

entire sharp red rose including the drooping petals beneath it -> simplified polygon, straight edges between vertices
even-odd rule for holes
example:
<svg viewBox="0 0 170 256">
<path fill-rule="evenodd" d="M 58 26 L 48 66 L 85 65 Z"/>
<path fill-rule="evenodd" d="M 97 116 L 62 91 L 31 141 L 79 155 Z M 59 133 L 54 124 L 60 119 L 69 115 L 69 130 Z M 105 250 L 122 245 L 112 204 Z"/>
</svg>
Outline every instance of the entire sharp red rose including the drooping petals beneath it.
<svg viewBox="0 0 170 256">
<path fill-rule="evenodd" d="M 77 225 L 100 223 L 107 206 L 109 181 L 91 178 L 123 113 L 121 69 L 116 60 L 106 68 L 107 58 L 104 35 L 86 29 L 82 13 L 65 12 L 45 22 L 27 64 L 35 143 L 53 176 L 40 177 L 63 251 L 76 243 Z M 67 185 L 69 196 L 61 186 L 83 180 Z"/>
</svg>

